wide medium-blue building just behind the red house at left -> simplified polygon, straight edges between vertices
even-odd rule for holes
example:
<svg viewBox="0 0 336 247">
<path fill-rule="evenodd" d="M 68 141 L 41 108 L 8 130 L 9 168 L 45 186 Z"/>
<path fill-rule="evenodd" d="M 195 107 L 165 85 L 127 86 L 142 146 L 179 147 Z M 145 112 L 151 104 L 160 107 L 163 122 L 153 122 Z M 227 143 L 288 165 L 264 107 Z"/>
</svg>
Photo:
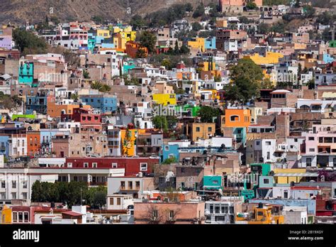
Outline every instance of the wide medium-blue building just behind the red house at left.
<svg viewBox="0 0 336 247">
<path fill-rule="evenodd" d="M 103 114 L 116 111 L 117 109 L 117 98 L 112 95 L 82 95 L 80 99 L 83 103 L 89 104 L 94 109 L 100 109 Z"/>
</svg>

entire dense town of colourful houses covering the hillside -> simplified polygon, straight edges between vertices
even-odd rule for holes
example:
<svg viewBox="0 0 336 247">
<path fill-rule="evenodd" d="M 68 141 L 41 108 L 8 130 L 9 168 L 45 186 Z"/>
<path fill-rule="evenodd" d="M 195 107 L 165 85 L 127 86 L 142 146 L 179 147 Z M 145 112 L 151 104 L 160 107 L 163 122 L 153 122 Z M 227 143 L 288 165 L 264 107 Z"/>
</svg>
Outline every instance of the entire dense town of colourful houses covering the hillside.
<svg viewBox="0 0 336 247">
<path fill-rule="evenodd" d="M 335 26 L 271 0 L 3 23 L 0 224 L 335 224 Z"/>
</svg>

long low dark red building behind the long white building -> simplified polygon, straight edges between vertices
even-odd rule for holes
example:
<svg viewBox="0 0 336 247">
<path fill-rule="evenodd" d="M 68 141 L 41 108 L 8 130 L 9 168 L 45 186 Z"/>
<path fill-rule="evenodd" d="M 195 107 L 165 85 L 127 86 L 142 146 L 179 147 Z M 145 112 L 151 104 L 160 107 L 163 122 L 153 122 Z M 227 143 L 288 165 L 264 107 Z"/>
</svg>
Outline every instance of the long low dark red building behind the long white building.
<svg viewBox="0 0 336 247">
<path fill-rule="evenodd" d="M 135 176 L 139 172 L 154 172 L 154 165 L 159 158 L 67 158 L 65 168 L 125 168 L 125 176 Z"/>
</svg>

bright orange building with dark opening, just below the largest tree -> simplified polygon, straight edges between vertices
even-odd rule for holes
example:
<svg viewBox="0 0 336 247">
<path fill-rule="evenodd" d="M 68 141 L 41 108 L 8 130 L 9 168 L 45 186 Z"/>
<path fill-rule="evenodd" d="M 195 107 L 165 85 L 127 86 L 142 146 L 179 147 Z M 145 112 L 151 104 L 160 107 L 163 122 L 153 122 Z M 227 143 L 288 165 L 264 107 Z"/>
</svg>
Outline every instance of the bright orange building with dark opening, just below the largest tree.
<svg viewBox="0 0 336 247">
<path fill-rule="evenodd" d="M 225 109 L 225 127 L 248 127 L 251 124 L 249 109 Z"/>
</svg>

